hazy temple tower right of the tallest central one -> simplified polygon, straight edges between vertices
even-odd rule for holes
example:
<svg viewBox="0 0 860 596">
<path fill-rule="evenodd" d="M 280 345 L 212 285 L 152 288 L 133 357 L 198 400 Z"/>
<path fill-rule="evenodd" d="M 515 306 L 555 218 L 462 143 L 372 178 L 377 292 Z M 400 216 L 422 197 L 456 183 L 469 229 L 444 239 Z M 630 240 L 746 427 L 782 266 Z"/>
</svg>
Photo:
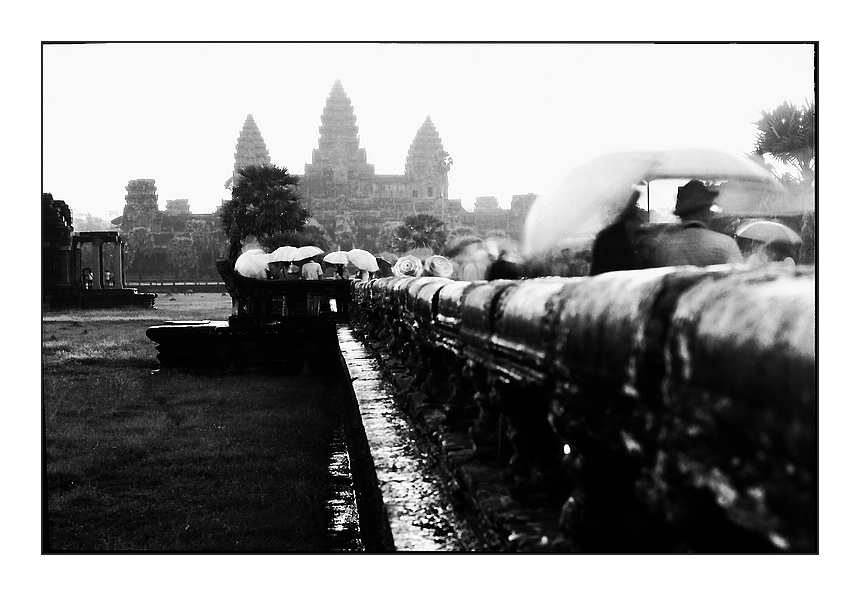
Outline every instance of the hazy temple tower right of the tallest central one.
<svg viewBox="0 0 860 596">
<path fill-rule="evenodd" d="M 436 126 L 427 116 L 406 155 L 407 196 L 413 203 L 448 199 L 448 170 L 451 164 Z"/>
</svg>

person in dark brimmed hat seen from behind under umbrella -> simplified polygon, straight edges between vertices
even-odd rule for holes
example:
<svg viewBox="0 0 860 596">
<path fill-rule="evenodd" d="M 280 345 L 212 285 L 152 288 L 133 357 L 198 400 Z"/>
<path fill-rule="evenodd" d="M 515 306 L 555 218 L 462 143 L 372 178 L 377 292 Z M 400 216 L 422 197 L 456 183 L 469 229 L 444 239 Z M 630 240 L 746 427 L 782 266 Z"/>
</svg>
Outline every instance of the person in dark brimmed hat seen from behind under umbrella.
<svg viewBox="0 0 860 596">
<path fill-rule="evenodd" d="M 711 230 L 714 202 L 719 195 L 715 188 L 699 180 L 691 180 L 678 188 L 673 212 L 681 219 L 679 229 L 662 236 L 654 247 L 655 267 L 680 265 L 721 265 L 742 263 L 743 255 L 730 236 Z"/>
</svg>

